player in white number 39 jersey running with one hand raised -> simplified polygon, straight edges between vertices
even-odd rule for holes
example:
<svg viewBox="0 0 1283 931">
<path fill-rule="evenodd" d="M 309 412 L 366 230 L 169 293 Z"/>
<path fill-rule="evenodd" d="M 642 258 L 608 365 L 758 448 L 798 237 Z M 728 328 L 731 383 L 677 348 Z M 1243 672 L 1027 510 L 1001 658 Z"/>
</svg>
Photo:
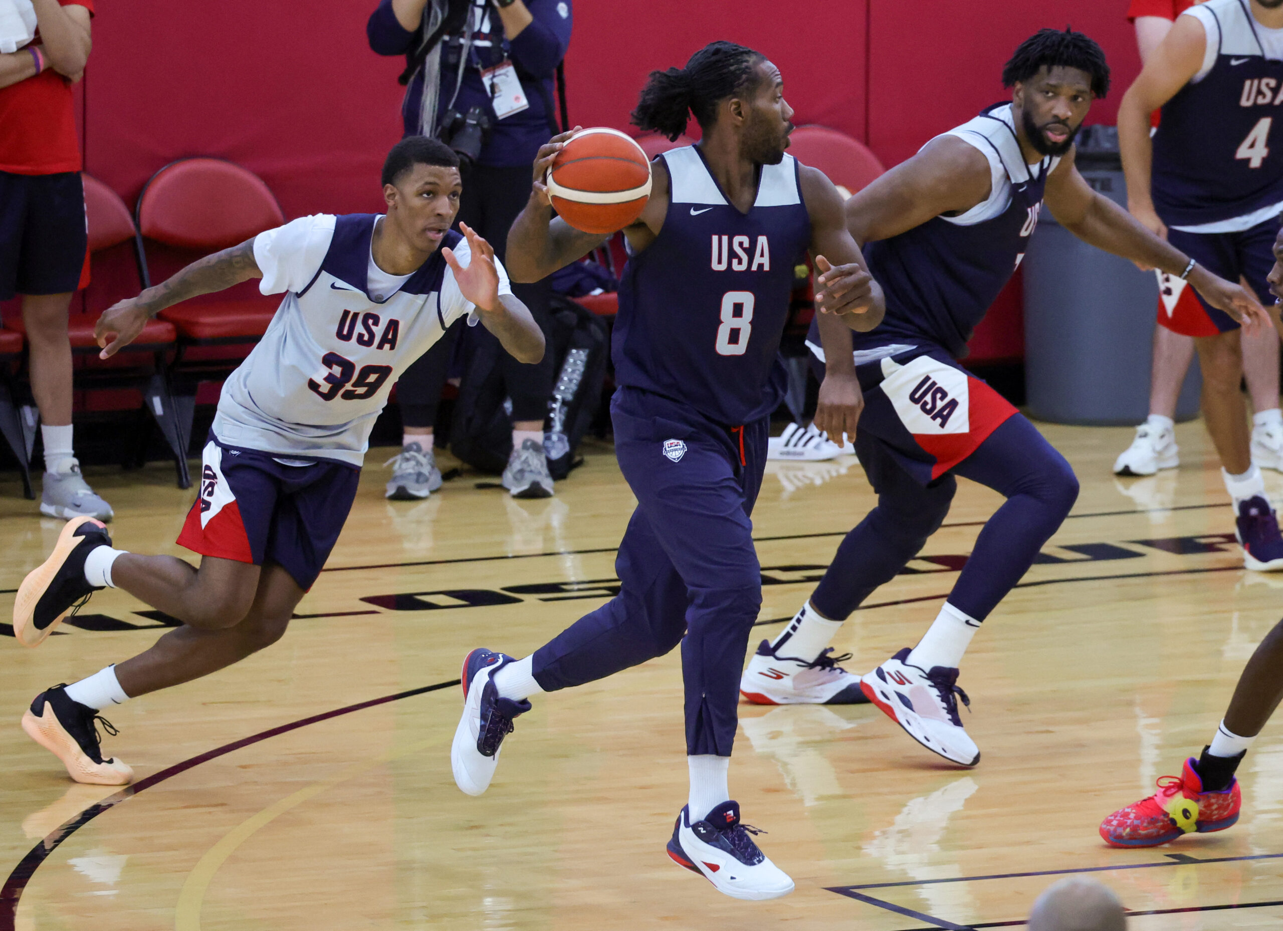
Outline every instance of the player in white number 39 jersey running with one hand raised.
<svg viewBox="0 0 1283 931">
<path fill-rule="evenodd" d="M 370 431 L 396 377 L 473 312 L 507 351 L 536 362 L 544 337 L 512 296 L 490 245 L 450 230 L 458 156 L 412 136 L 387 155 L 385 214 L 316 214 L 192 263 L 110 308 L 104 358 L 149 317 L 250 278 L 284 295 L 263 339 L 228 376 L 201 451 L 200 491 L 172 555 L 114 549 L 80 517 L 23 580 L 14 636 L 40 645 L 94 591 L 119 587 L 181 621 L 149 650 L 36 696 L 22 726 L 78 782 L 123 785 L 94 719 L 105 707 L 207 676 L 285 633 L 321 573 L 357 494 Z M 114 734 L 114 731 L 113 731 Z"/>
</svg>

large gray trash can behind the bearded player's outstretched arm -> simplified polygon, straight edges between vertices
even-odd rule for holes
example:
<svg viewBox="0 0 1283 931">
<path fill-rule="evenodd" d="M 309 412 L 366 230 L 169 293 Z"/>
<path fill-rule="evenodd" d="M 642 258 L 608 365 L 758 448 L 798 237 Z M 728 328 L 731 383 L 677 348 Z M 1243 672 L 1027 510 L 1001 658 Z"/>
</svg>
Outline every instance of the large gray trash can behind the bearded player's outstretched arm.
<svg viewBox="0 0 1283 931">
<path fill-rule="evenodd" d="M 1083 130 L 1078 171 L 1126 208 L 1112 126 Z M 1025 269 L 1025 398 L 1041 421 L 1134 424 L 1150 414 L 1150 364 L 1159 280 L 1089 246 L 1043 209 Z M 1185 376 L 1177 419 L 1198 414 L 1198 359 Z"/>
</svg>

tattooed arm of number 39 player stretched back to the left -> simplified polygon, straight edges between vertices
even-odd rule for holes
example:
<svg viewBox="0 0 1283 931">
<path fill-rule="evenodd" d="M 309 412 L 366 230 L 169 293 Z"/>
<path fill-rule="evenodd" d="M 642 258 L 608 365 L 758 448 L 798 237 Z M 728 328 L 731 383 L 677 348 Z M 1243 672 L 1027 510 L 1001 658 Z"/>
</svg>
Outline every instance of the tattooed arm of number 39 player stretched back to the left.
<svg viewBox="0 0 1283 931">
<path fill-rule="evenodd" d="M 254 239 L 198 259 L 137 298 L 122 300 L 104 310 L 94 327 L 94 337 L 103 348 L 99 358 L 115 355 L 133 342 L 146 322 L 167 306 L 201 294 L 222 291 L 250 278 L 262 278 L 263 272 L 254 258 Z"/>
</svg>

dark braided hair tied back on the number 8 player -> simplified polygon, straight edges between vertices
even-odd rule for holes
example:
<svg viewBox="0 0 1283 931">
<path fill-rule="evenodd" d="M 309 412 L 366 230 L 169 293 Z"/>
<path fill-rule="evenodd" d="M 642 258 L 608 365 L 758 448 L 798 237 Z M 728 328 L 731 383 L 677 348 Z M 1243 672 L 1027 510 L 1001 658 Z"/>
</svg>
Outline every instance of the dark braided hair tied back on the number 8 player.
<svg viewBox="0 0 1283 931">
<path fill-rule="evenodd" d="M 717 104 L 753 85 L 753 69 L 766 60 L 760 51 L 734 42 L 709 42 L 685 68 L 653 71 L 647 78 L 633 124 L 676 140 L 686 131 L 688 113 L 704 130 L 717 118 Z"/>
</svg>

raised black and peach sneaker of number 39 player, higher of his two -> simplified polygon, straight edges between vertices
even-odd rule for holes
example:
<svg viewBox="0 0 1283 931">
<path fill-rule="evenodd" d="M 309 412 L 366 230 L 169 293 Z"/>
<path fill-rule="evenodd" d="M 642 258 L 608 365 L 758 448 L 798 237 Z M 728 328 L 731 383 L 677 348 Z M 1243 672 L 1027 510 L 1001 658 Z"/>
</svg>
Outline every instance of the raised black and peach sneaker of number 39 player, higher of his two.
<svg viewBox="0 0 1283 931">
<path fill-rule="evenodd" d="M 92 517 L 67 522 L 49 559 L 28 572 L 18 586 L 13 635 L 19 644 L 40 646 L 67 614 L 78 610 L 98 591 L 85 581 L 85 558 L 96 548 L 110 545 L 106 526 Z"/>
</svg>

